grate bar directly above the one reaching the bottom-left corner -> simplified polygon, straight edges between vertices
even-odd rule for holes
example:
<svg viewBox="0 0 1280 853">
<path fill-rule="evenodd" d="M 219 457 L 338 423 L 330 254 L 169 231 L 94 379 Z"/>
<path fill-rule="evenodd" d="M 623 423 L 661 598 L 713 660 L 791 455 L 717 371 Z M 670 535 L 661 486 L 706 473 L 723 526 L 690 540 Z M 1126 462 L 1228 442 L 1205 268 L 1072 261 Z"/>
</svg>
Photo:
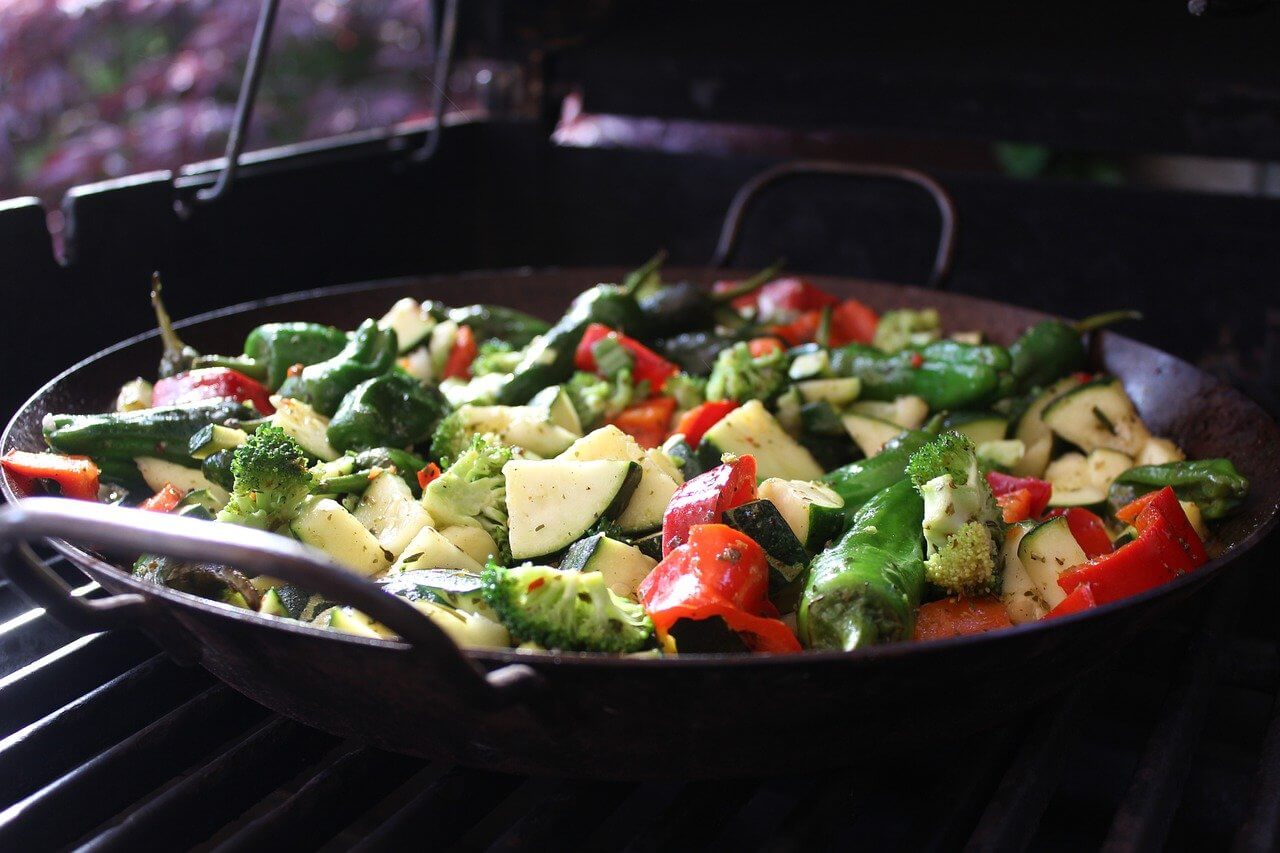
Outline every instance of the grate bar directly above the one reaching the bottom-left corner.
<svg viewBox="0 0 1280 853">
<path fill-rule="evenodd" d="M 163 654 L 0 740 L 0 806 L 29 795 L 206 689 L 210 676 Z"/>
</svg>

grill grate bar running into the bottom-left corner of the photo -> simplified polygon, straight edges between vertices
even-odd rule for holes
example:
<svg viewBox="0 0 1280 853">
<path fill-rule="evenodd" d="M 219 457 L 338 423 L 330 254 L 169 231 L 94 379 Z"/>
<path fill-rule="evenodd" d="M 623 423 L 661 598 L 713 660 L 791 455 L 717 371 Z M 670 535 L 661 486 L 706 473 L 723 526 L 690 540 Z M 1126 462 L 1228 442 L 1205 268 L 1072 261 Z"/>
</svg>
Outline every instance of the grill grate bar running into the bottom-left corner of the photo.
<svg viewBox="0 0 1280 853">
<path fill-rule="evenodd" d="M 265 715 L 230 688 L 209 688 L 0 812 L 0 849 L 50 849 L 76 841 Z"/>
</svg>

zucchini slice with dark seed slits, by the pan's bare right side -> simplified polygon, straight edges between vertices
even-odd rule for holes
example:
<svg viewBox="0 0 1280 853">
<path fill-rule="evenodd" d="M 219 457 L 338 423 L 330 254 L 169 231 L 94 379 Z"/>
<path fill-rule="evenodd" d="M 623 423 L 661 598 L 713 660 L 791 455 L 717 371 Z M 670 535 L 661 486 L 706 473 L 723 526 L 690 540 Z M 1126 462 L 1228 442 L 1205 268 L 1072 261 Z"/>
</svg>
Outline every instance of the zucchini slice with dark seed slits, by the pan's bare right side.
<svg viewBox="0 0 1280 853">
<path fill-rule="evenodd" d="M 1044 407 L 1044 423 L 1084 452 L 1100 447 L 1137 456 L 1151 438 L 1133 401 L 1115 377 L 1066 392 Z"/>
</svg>

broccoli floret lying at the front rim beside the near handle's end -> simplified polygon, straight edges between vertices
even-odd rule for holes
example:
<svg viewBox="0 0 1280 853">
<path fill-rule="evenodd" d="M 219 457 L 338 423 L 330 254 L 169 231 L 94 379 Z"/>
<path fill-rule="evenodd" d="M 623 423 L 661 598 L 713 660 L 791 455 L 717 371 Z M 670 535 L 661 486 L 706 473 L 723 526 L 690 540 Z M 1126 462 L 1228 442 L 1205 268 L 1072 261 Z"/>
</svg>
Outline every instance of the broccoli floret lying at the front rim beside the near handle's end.
<svg viewBox="0 0 1280 853">
<path fill-rule="evenodd" d="M 598 571 L 489 565 L 484 594 L 513 637 L 544 648 L 639 652 L 653 642 L 644 608 L 611 592 Z"/>
</svg>

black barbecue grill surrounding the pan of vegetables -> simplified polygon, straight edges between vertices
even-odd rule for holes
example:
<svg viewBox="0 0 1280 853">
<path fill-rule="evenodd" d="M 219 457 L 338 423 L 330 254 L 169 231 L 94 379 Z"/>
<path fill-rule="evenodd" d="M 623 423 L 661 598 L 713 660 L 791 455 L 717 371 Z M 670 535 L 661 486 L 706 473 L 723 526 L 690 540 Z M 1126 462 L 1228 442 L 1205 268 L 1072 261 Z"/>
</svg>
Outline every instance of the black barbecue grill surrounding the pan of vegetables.
<svg viewBox="0 0 1280 853">
<path fill-rule="evenodd" d="M 495 56 L 527 55 L 522 18 L 545 9 L 476 5 L 484 12 L 463 12 L 463 41 L 484 32 Z M 215 163 L 83 188 L 65 209 L 65 264 L 47 251 L 38 206 L 9 204 L 0 245 L 5 278 L 22 284 L 14 310 L 45 316 L 51 293 L 76 310 L 59 318 L 60 336 L 74 343 L 50 346 L 35 321 L 10 330 L 12 352 L 23 356 L 9 360 L 6 409 L 77 356 L 145 329 L 142 288 L 154 268 L 172 282 L 170 307 L 188 315 L 300 284 L 617 264 L 659 245 L 677 261 L 701 263 L 750 178 L 796 152 L 865 151 L 858 136 L 837 145 L 815 141 L 813 128 L 1280 151 L 1280 90 L 1263 73 L 1265 47 L 1280 32 L 1272 8 L 1239 23 L 1197 20 L 1176 8 L 1108 10 L 1119 15 L 1112 31 L 1140 23 L 1153 44 L 1164 36 L 1164 45 L 1184 50 L 1176 68 L 1147 50 L 1102 51 L 1085 110 L 1075 69 L 1055 64 L 1069 51 L 1009 47 L 1036 36 L 1012 17 L 986 36 L 995 54 L 984 68 L 956 74 L 931 47 L 964 22 L 895 36 L 906 9 L 868 13 L 856 32 L 812 10 L 737 17 L 730 40 L 726 9 L 714 4 L 607 14 L 603 5 L 581 22 L 536 20 L 541 32 L 556 23 L 576 36 L 558 38 L 532 67 L 545 92 L 541 109 L 460 119 L 435 142 L 426 129 L 398 129 L 248 155 L 229 182 Z M 1059 22 L 1062 42 L 1088 22 L 1088 9 Z M 977 27 L 968 23 L 969 32 Z M 1233 40 L 1238 67 L 1224 69 L 1194 47 L 1210 27 Z M 762 55 L 801 35 L 813 38 L 803 67 Z M 850 56 L 870 44 L 883 64 L 869 70 Z M 1149 76 L 1126 77 L 1130 63 Z M 996 69 L 1007 88 L 991 97 Z M 570 91 L 598 111 L 769 122 L 794 133 L 758 132 L 763 156 L 557 146 L 550 117 Z M 867 97 L 832 104 L 832 91 Z M 1033 96 L 1056 109 L 1028 109 Z M 196 197 L 219 179 L 228 191 Z M 1275 334 L 1275 316 L 1260 310 L 1271 307 L 1280 270 L 1275 201 L 1020 183 L 956 164 L 942 168 L 940 181 L 961 223 L 954 289 L 1069 315 L 1140 305 L 1148 321 L 1135 337 L 1193 360 L 1222 364 L 1224 353 L 1236 355 L 1231 378 L 1256 397 L 1274 393 L 1265 359 L 1221 341 Z M 763 264 L 786 252 L 796 269 L 924 282 L 936 228 L 933 201 L 918 187 L 797 175 L 759 196 L 732 260 Z M 1233 287 L 1221 287 L 1225 280 Z M 137 298 L 122 296 L 129 292 Z M 1267 607 L 1275 557 L 1272 539 L 1251 553 L 1247 571 L 1181 605 L 1119 661 L 1018 725 L 877 761 L 872 771 L 796 767 L 788 777 L 732 783 L 526 779 L 339 742 L 157 656 L 140 635 L 77 637 L 26 610 L 6 584 L 0 804 L 13 806 L 0 812 L 0 844 L 1148 849 L 1169 840 L 1270 849 L 1280 820 L 1280 657 Z M 81 594 L 101 594 L 69 564 L 47 560 Z"/>
</svg>

